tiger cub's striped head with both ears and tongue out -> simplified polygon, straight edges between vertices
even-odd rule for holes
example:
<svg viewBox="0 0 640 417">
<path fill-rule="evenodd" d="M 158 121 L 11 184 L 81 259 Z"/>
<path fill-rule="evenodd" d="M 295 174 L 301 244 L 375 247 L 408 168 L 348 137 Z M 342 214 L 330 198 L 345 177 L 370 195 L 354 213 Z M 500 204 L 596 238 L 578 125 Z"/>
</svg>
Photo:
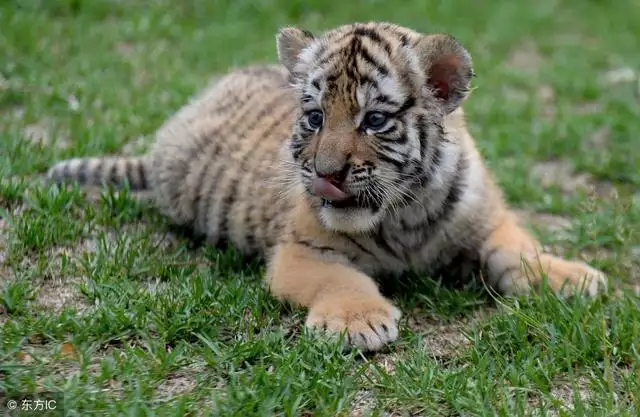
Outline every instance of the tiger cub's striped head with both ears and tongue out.
<svg viewBox="0 0 640 417">
<path fill-rule="evenodd" d="M 471 58 L 449 35 L 378 22 L 321 36 L 284 28 L 277 46 L 300 103 L 290 149 L 312 206 L 329 229 L 367 232 L 428 182 Z"/>
</svg>

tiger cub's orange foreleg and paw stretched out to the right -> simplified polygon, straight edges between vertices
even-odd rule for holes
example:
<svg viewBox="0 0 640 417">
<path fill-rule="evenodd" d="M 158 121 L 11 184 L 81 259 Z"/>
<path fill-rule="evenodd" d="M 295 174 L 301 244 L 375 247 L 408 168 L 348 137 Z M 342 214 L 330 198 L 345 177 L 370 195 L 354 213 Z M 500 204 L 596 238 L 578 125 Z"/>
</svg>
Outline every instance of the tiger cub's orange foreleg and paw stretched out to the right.
<svg viewBox="0 0 640 417">
<path fill-rule="evenodd" d="M 583 292 L 594 296 L 606 289 L 606 276 L 579 261 L 568 261 L 543 253 L 541 245 L 518 225 L 512 212 L 505 212 L 480 251 L 489 284 L 507 295 L 526 294 L 543 279 L 564 295 Z"/>
</svg>

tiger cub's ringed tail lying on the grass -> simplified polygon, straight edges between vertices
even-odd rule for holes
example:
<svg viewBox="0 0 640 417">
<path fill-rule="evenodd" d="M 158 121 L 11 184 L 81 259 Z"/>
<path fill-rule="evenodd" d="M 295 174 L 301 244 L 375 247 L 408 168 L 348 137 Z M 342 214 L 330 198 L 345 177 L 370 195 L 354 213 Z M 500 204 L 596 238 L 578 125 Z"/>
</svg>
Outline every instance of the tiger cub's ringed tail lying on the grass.
<svg viewBox="0 0 640 417">
<path fill-rule="evenodd" d="M 126 182 L 132 190 L 148 190 L 150 160 L 148 156 L 114 156 L 73 158 L 49 168 L 47 182 L 77 182 L 80 185 L 112 184 L 122 187 Z"/>
</svg>

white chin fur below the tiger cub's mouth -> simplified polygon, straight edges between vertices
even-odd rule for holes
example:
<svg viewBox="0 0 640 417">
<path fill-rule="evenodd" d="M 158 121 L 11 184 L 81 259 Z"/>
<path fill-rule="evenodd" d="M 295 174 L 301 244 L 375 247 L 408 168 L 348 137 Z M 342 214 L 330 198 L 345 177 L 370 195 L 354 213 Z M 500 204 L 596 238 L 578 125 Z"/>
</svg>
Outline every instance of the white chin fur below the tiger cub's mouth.
<svg viewBox="0 0 640 417">
<path fill-rule="evenodd" d="M 327 229 L 343 233 L 366 233 L 377 226 L 384 216 L 383 210 L 374 213 L 368 208 L 320 208 L 320 221 Z"/>
</svg>

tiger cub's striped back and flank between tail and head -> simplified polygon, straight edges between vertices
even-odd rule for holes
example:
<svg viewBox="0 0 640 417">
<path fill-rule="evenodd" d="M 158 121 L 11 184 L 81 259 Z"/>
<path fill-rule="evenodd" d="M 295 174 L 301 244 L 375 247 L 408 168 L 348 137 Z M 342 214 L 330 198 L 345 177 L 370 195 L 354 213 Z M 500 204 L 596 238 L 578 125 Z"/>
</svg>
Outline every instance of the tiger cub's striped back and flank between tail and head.
<svg viewBox="0 0 640 417">
<path fill-rule="evenodd" d="M 159 208 L 212 243 L 276 243 L 292 207 L 283 145 L 296 112 L 280 67 L 236 70 L 169 119 L 151 150 Z"/>
</svg>

